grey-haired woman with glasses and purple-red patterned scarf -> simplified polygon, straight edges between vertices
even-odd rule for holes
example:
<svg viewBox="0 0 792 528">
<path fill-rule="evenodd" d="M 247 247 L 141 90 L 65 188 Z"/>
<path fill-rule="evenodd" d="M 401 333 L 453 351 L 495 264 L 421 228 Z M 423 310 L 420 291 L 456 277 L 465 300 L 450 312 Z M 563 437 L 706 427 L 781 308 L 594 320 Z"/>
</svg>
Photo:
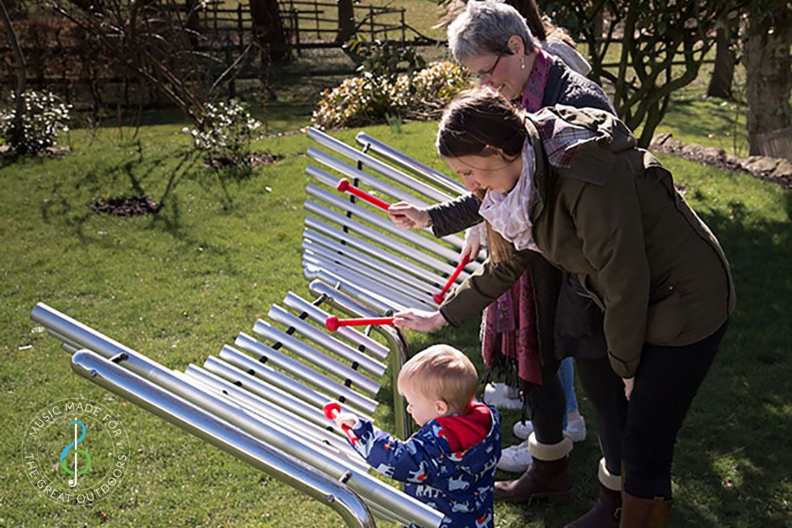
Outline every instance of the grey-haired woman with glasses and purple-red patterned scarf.
<svg viewBox="0 0 792 528">
<path fill-rule="evenodd" d="M 478 75 L 482 85 L 497 88 L 509 100 L 532 111 L 552 104 L 578 108 L 593 107 L 612 112 L 605 93 L 594 82 L 570 70 L 562 61 L 542 51 L 526 21 L 511 6 L 500 2 L 470 2 L 449 27 L 449 44 L 455 58 Z M 483 196 L 483 195 L 482 195 Z M 472 192 L 428 210 L 398 203 L 389 214 L 399 226 L 432 225 L 442 237 L 482 222 L 480 198 Z M 470 319 L 481 310 L 454 302 L 444 306 L 444 316 L 453 325 Z M 600 391 L 593 401 L 597 408 L 626 407 L 621 382 L 607 365 L 602 333 L 602 314 L 582 290 L 577 278 L 554 268 L 541 257 L 531 260 L 525 272 L 485 313 L 483 351 L 491 366 L 492 348 L 511 346 L 516 370 L 523 382 L 534 431 L 528 439 L 531 465 L 520 479 L 496 484 L 496 498 L 527 501 L 544 498 L 566 500 L 570 496 L 568 457 L 572 443 L 563 435 L 565 397 L 556 375 L 559 360 L 568 355 L 578 364 L 591 363 L 586 370 L 610 375 L 609 393 Z M 505 329 L 505 330 L 504 330 Z M 509 344 L 506 341 L 512 340 Z M 508 352 L 507 352 L 508 354 Z M 596 368 L 595 368 L 596 367 Z M 588 384 L 602 383 L 602 376 L 584 377 Z M 588 392 L 588 391 L 587 391 Z M 600 444 L 600 497 L 586 522 L 596 526 L 618 524 L 621 506 L 621 429 L 619 415 L 598 413 Z M 592 520 L 593 515 L 593 520 Z M 585 526 L 585 525 L 581 525 Z"/>
</svg>

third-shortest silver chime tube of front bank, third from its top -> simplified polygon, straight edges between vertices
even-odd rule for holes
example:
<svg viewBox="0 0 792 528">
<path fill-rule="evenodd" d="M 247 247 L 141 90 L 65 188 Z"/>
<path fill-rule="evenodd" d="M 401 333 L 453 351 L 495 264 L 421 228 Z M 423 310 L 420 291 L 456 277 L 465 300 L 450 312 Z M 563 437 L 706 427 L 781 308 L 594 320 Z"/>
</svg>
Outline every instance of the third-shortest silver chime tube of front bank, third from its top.
<svg viewBox="0 0 792 528">
<path fill-rule="evenodd" d="M 363 389 L 371 395 L 376 395 L 379 392 L 379 383 L 365 374 L 353 370 L 352 367 L 347 367 L 344 363 L 331 358 L 324 352 L 318 351 L 316 348 L 311 347 L 309 344 L 291 336 L 276 326 L 270 325 L 267 321 L 259 319 L 256 325 L 253 326 L 253 333 L 272 340 L 272 348 L 278 349 L 284 347 L 289 351 L 294 352 L 299 357 L 305 359 L 311 365 L 318 368 L 327 370 L 329 373 L 341 378 L 341 382 L 348 387 L 354 389 Z M 280 345 L 279 345 L 280 343 Z"/>
</svg>

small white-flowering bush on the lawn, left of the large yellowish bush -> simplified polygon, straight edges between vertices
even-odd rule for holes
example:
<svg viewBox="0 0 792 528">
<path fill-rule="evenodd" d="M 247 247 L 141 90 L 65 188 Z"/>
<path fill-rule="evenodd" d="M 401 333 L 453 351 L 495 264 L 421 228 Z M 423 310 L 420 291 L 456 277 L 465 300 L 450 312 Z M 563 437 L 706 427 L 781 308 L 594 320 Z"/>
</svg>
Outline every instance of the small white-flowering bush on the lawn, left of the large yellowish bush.
<svg viewBox="0 0 792 528">
<path fill-rule="evenodd" d="M 182 129 L 192 135 L 196 149 L 204 150 L 213 165 L 249 164 L 250 142 L 257 138 L 261 122 L 250 116 L 244 103 L 236 99 L 209 103 L 202 119 L 204 131 Z"/>
</svg>

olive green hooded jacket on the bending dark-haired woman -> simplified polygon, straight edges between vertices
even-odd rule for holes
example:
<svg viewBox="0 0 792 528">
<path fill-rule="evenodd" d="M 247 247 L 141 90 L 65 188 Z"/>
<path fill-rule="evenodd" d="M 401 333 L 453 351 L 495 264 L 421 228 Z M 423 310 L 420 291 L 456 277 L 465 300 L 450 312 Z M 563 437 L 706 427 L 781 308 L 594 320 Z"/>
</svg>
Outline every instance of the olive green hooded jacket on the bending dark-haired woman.
<svg viewBox="0 0 792 528">
<path fill-rule="evenodd" d="M 674 188 L 672 175 L 614 116 L 593 108 L 553 112 L 597 131 L 569 168 L 547 162 L 542 139 L 526 124 L 536 153 L 532 234 L 550 263 L 580 279 L 604 311 L 608 355 L 631 378 L 645 343 L 684 346 L 718 330 L 733 312 L 729 263 L 704 222 Z M 520 277 L 535 253 L 489 260 L 440 306 L 458 325 L 480 313 Z"/>
</svg>

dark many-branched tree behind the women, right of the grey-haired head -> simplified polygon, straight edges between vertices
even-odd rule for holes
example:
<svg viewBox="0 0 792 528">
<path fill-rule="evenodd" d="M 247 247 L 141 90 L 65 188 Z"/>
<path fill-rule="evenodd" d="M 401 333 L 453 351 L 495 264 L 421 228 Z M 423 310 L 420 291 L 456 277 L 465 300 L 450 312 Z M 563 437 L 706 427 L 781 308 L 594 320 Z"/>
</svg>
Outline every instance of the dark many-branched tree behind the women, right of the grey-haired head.
<svg viewBox="0 0 792 528">
<path fill-rule="evenodd" d="M 719 17 L 735 9 L 729 0 L 572 0 L 539 2 L 570 34 L 588 43 L 589 77 L 607 84 L 619 117 L 632 130 L 641 129 L 638 144 L 649 145 L 671 95 L 694 81 L 714 44 L 711 34 Z M 595 24 L 607 13 L 607 32 Z M 604 61 L 621 33 L 615 70 Z M 601 44 L 600 44 L 601 42 Z"/>
</svg>

